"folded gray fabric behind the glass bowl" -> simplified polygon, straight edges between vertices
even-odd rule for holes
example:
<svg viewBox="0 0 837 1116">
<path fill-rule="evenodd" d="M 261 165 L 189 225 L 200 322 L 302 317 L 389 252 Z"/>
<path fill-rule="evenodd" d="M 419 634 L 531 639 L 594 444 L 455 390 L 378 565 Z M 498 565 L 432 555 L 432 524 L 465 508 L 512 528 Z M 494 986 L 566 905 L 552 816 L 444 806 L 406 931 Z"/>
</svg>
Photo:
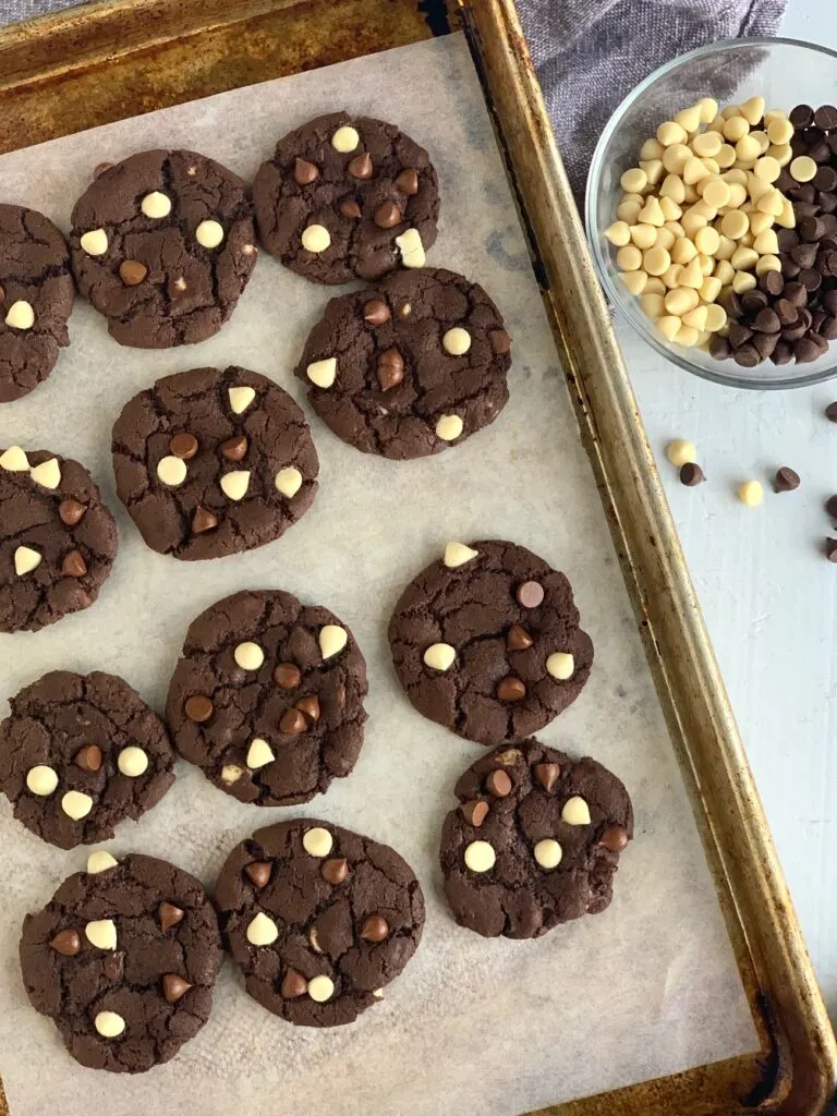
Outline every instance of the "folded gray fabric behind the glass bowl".
<svg viewBox="0 0 837 1116">
<path fill-rule="evenodd" d="M 663 62 L 718 39 L 776 35 L 785 0 L 517 0 L 580 203 L 610 114 Z"/>
</svg>

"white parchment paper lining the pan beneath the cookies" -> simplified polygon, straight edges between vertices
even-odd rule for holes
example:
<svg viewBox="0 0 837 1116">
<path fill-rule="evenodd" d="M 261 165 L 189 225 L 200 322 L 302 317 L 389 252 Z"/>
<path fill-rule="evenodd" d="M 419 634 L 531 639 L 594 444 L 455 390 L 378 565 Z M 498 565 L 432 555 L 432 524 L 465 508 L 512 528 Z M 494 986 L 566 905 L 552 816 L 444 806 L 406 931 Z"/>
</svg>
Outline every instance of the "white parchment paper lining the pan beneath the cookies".
<svg viewBox="0 0 837 1116">
<path fill-rule="evenodd" d="M 306 334 L 334 294 L 262 253 L 221 334 L 191 349 L 121 348 L 77 304 L 73 344 L 46 385 L 0 408 L 0 444 L 88 464 L 118 516 L 121 552 L 98 603 L 33 635 L 0 636 L 3 696 L 48 670 L 124 675 L 162 709 L 189 622 L 244 587 L 289 589 L 353 628 L 371 677 L 355 772 L 296 810 L 243 806 L 196 769 L 112 852 L 137 849 L 213 878 L 232 845 L 290 815 L 320 816 L 394 845 L 427 899 L 424 940 L 379 1006 L 352 1027 L 295 1028 L 242 988 L 228 961 L 212 1017 L 166 1066 L 140 1077 L 81 1069 L 36 1014 L 17 961 L 20 922 L 87 850 L 61 853 L 0 806 L 0 1071 L 12 1116 L 177 1110 L 248 1116 L 511 1116 L 757 1049 L 729 940 L 643 656 L 594 479 L 529 267 L 482 95 L 462 38 L 404 47 L 329 69 L 58 140 L 0 158 L 6 201 L 66 229 L 92 167 L 156 145 L 186 146 L 251 177 L 273 142 L 348 106 L 400 123 L 431 151 L 442 223 L 429 263 L 479 279 L 514 338 L 511 401 L 487 431 L 440 458 L 395 463 L 338 441 L 310 415 L 320 492 L 283 539 L 248 555 L 177 562 L 153 554 L 114 496 L 110 425 L 157 376 L 242 364 L 304 403 L 291 377 Z M 305 403 L 304 403 L 305 405 Z M 539 735 L 590 753 L 631 791 L 636 840 L 612 906 L 537 942 L 460 930 L 441 897 L 439 833 L 453 783 L 481 748 L 421 718 L 394 676 L 386 623 L 406 581 L 449 539 L 510 538 L 565 570 L 596 645 L 590 681 Z M 2 709 L 4 715 L 6 709 Z"/>
</svg>

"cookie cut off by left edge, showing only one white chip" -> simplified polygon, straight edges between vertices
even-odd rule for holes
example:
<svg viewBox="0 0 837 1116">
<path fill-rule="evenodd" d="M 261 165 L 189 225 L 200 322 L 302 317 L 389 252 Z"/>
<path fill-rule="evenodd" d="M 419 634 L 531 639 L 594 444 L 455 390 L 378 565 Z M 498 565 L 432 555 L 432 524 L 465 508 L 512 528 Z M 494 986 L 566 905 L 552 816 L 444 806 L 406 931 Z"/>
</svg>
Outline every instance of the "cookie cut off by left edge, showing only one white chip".
<svg viewBox="0 0 837 1116">
<path fill-rule="evenodd" d="M 69 345 L 76 285 L 69 251 L 37 210 L 0 205 L 0 403 L 46 379 Z"/>
</svg>

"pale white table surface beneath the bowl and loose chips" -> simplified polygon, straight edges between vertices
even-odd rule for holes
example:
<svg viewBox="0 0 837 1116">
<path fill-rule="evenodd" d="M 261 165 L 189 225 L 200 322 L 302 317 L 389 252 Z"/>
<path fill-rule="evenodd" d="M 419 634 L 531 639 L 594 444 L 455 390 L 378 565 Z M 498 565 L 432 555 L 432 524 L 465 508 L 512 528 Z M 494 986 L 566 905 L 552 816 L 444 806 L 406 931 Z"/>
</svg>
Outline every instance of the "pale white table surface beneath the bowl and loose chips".
<svg viewBox="0 0 837 1116">
<path fill-rule="evenodd" d="M 835 0 L 789 0 L 781 35 L 837 49 Z M 833 1022 L 837 1022 L 837 567 L 822 542 L 837 492 L 837 379 L 792 392 L 704 383 L 627 326 L 619 340 L 657 455 L 768 820 Z M 684 488 L 665 459 L 687 437 L 708 483 Z M 775 496 L 778 465 L 802 479 Z M 759 478 L 764 503 L 734 494 Z"/>
</svg>

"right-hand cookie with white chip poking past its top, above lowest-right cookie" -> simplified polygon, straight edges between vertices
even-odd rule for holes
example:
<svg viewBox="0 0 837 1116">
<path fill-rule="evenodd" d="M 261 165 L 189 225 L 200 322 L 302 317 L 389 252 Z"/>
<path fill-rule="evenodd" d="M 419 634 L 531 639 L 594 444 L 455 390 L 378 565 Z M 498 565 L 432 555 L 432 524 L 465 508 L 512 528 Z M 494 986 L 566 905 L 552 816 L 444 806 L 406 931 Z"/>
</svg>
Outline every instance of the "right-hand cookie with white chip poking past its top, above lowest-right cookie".
<svg viewBox="0 0 837 1116">
<path fill-rule="evenodd" d="M 513 542 L 449 542 L 389 620 L 401 684 L 420 713 L 480 744 L 542 729 L 581 692 L 593 643 L 573 588 Z"/>
</svg>

